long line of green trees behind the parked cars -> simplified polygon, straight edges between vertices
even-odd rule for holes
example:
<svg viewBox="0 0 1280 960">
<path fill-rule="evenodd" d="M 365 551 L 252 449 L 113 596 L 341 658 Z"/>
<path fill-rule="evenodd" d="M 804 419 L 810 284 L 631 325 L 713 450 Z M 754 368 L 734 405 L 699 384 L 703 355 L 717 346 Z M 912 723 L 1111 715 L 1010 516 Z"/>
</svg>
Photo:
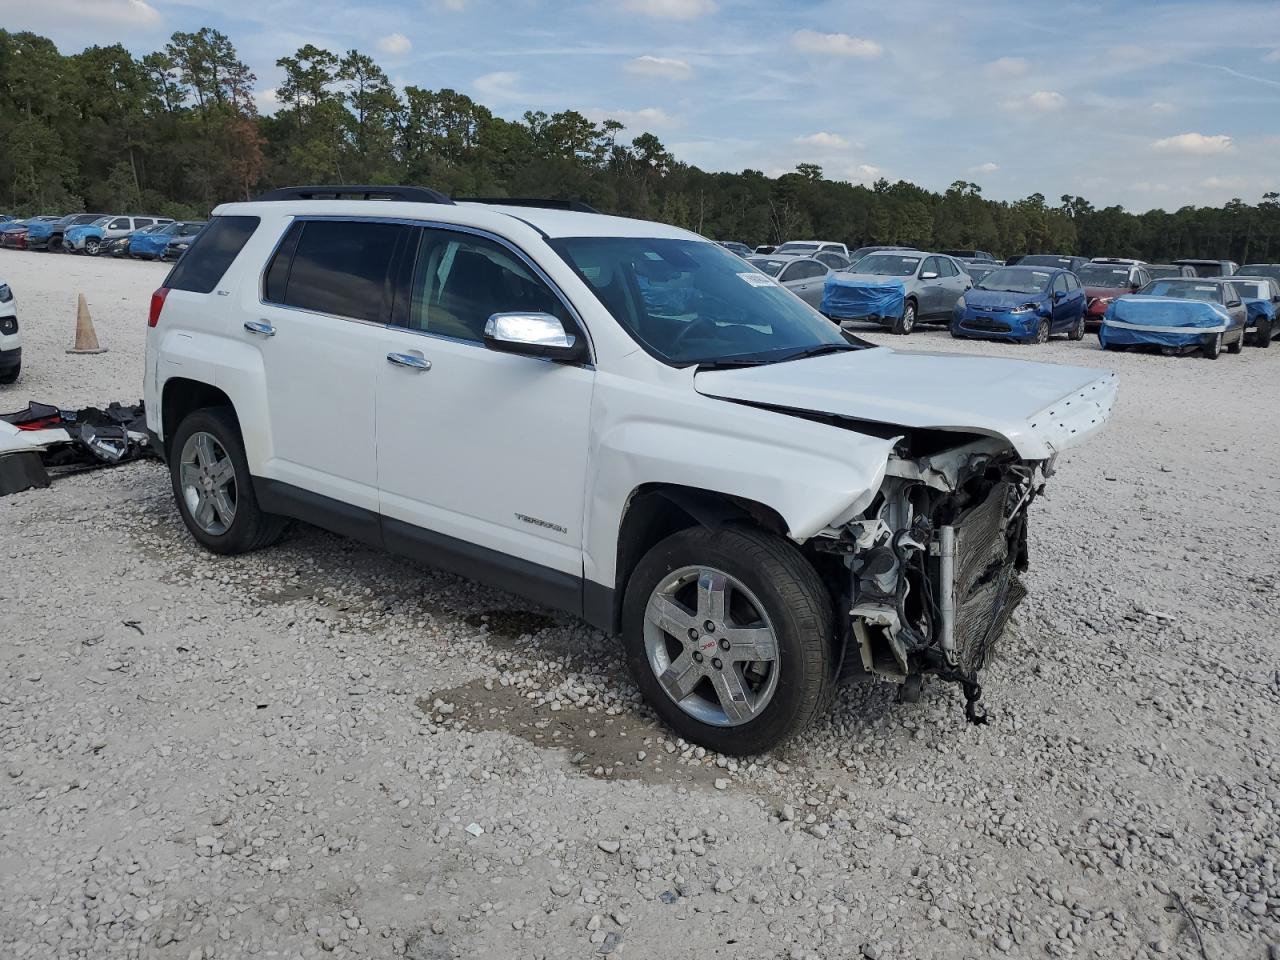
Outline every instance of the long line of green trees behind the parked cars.
<svg viewBox="0 0 1280 960">
<path fill-rule="evenodd" d="M 1083 197 L 988 200 L 956 180 L 831 180 L 817 164 L 767 177 L 681 163 L 653 133 L 576 110 L 495 116 L 454 90 L 397 90 L 367 54 L 306 45 L 276 65 L 278 109 L 230 38 L 204 27 L 133 56 L 120 44 L 64 55 L 0 29 L 0 210 L 204 216 L 297 183 L 426 184 L 454 196 L 581 200 L 749 244 L 801 237 L 922 248 L 1280 261 L 1280 195 L 1130 214 Z"/>
</svg>

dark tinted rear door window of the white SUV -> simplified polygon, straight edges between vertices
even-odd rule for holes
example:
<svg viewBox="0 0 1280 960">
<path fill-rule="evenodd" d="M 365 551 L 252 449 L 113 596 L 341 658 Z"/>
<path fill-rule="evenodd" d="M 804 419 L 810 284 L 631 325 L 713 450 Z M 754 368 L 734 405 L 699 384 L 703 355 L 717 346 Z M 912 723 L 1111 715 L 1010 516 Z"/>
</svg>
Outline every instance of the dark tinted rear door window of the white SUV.
<svg viewBox="0 0 1280 960">
<path fill-rule="evenodd" d="M 388 274 L 408 230 L 402 224 L 353 220 L 297 224 L 268 268 L 264 293 L 289 307 L 387 323 Z"/>
</svg>

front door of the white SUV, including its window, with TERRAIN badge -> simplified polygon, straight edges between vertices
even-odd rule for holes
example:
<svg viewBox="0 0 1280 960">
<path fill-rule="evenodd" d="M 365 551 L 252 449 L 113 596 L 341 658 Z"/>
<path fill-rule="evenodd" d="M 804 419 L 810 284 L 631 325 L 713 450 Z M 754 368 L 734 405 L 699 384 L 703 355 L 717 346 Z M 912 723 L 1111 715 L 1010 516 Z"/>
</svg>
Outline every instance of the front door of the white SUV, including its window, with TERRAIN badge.
<svg viewBox="0 0 1280 960">
<path fill-rule="evenodd" d="M 413 262 L 376 365 L 387 547 L 575 608 L 595 372 L 488 349 L 484 326 L 517 311 L 576 321 L 495 239 L 420 228 Z"/>
</svg>

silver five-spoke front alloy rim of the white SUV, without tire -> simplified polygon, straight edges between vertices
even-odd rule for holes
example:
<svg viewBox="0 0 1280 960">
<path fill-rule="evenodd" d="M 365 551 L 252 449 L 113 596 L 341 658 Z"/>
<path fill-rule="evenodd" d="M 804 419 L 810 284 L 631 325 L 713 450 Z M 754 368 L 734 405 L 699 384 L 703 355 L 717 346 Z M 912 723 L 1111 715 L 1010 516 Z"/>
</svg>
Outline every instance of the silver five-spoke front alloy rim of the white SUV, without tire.
<svg viewBox="0 0 1280 960">
<path fill-rule="evenodd" d="M 704 723 L 748 723 L 778 686 L 778 639 L 763 604 L 713 567 L 682 567 L 654 588 L 644 644 L 667 696 Z"/>
</svg>

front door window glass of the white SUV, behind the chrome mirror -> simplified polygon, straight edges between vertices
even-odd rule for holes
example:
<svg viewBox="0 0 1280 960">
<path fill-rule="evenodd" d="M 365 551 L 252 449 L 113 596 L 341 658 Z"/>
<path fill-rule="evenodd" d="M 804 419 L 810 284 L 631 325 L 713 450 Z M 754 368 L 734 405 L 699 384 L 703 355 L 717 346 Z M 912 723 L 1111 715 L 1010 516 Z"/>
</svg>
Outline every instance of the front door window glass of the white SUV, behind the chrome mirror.
<svg viewBox="0 0 1280 960">
<path fill-rule="evenodd" d="M 550 314 L 573 326 L 559 297 L 507 247 L 470 233 L 422 229 L 411 329 L 479 343 L 490 316 L 511 312 Z"/>
</svg>

